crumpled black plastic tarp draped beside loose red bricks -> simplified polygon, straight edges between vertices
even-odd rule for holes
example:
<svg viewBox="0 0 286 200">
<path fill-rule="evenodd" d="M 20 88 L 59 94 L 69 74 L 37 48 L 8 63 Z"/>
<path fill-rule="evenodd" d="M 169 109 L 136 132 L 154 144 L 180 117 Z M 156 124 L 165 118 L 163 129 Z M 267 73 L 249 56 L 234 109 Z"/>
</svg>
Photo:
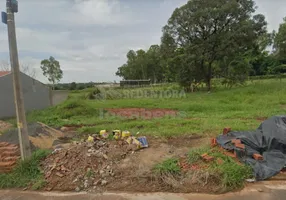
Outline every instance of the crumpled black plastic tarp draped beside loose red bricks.
<svg viewBox="0 0 286 200">
<path fill-rule="evenodd" d="M 240 139 L 245 150 L 236 148 L 232 139 Z M 217 137 L 220 146 L 234 150 L 241 162 L 253 168 L 256 180 L 277 175 L 286 165 L 286 116 L 275 116 L 264 121 L 255 131 L 232 131 Z M 253 154 L 263 156 L 255 160 Z"/>
</svg>

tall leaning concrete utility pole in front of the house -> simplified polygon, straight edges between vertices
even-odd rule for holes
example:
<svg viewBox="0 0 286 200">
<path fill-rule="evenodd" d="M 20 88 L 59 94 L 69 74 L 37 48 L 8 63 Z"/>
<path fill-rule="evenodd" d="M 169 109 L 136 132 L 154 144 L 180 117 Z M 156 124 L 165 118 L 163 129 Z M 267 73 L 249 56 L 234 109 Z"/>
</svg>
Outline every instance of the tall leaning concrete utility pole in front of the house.
<svg viewBox="0 0 286 200">
<path fill-rule="evenodd" d="M 13 86 L 14 86 L 14 98 L 15 107 L 17 114 L 17 126 L 19 143 L 21 149 L 21 158 L 25 160 L 31 156 L 31 147 L 28 135 L 28 127 L 25 115 L 24 98 L 20 81 L 20 69 L 19 69 L 19 59 L 18 59 L 18 49 L 16 40 L 16 28 L 14 20 L 15 0 L 6 0 L 7 7 L 7 27 L 8 27 L 8 39 L 9 39 L 9 49 L 10 49 L 10 62 L 13 74 Z"/>
</svg>

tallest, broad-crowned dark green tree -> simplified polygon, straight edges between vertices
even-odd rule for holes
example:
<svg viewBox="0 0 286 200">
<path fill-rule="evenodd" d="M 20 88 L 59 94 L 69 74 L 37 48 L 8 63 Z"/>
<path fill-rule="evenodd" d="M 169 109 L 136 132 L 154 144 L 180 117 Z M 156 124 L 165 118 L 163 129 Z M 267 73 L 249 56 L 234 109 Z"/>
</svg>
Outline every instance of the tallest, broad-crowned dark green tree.
<svg viewBox="0 0 286 200">
<path fill-rule="evenodd" d="M 188 63 L 180 64 L 185 68 L 180 69 L 183 74 L 203 76 L 211 90 L 214 68 L 220 68 L 219 62 L 224 57 L 236 60 L 237 55 L 251 50 L 266 33 L 265 17 L 253 15 L 254 7 L 252 0 L 190 0 L 177 8 L 163 28 L 163 36 L 171 37 L 176 48 L 184 49 Z M 162 40 L 162 45 L 168 46 L 165 43 Z"/>
</svg>

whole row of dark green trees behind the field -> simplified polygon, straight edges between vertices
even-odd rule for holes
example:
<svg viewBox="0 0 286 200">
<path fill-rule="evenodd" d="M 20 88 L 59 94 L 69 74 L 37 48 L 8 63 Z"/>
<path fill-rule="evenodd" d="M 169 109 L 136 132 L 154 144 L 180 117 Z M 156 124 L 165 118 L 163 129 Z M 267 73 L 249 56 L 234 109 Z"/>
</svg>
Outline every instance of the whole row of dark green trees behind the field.
<svg viewBox="0 0 286 200">
<path fill-rule="evenodd" d="M 130 50 L 116 75 L 124 80 L 178 82 L 186 89 L 211 80 L 244 83 L 249 76 L 286 73 L 286 18 L 268 32 L 253 0 L 189 0 L 162 29 L 161 43 Z"/>
</svg>

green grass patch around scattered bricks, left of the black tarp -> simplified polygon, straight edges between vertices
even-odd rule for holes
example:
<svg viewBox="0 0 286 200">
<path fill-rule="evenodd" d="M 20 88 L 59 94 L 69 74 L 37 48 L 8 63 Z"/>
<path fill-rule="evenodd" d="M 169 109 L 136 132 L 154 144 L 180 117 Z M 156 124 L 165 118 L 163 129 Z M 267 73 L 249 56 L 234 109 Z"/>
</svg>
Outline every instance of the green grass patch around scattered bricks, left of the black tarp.
<svg viewBox="0 0 286 200">
<path fill-rule="evenodd" d="M 198 163 L 201 161 L 200 155 L 207 153 L 215 158 L 214 161 L 208 164 L 207 169 L 203 169 L 206 173 L 219 174 L 221 187 L 225 191 L 240 189 L 244 186 L 245 179 L 252 177 L 252 169 L 250 166 L 241 165 L 238 161 L 221 153 L 217 149 L 210 147 L 192 149 L 188 154 L 190 163 Z M 217 160 L 222 160 L 222 163 Z"/>
</svg>

